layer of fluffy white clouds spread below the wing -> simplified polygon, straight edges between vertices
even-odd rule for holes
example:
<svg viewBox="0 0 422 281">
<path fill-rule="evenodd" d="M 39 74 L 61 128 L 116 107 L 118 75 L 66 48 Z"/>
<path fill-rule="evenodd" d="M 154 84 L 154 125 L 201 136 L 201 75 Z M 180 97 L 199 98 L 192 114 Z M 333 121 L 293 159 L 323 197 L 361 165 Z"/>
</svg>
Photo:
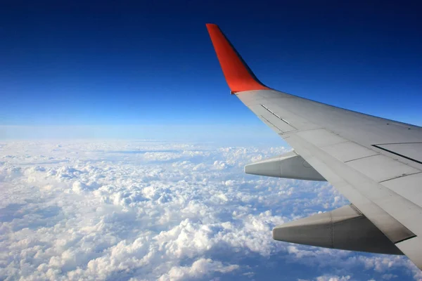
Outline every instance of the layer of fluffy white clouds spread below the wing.
<svg viewBox="0 0 422 281">
<path fill-rule="evenodd" d="M 422 277 L 402 256 L 272 240 L 284 221 L 347 204 L 326 183 L 243 173 L 287 148 L 25 141 L 0 149 L 0 279 Z"/>
</svg>

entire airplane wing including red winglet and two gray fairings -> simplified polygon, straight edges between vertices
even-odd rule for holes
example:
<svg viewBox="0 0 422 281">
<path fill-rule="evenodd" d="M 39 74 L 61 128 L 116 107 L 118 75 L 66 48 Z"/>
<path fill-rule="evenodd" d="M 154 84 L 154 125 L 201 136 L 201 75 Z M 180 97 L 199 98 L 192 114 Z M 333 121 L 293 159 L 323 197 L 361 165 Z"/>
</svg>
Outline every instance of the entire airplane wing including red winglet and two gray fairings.
<svg viewBox="0 0 422 281">
<path fill-rule="evenodd" d="M 294 149 L 245 172 L 328 181 L 352 203 L 277 226 L 274 239 L 405 254 L 422 269 L 422 128 L 270 89 L 217 25 L 207 30 L 231 93 Z"/>
</svg>

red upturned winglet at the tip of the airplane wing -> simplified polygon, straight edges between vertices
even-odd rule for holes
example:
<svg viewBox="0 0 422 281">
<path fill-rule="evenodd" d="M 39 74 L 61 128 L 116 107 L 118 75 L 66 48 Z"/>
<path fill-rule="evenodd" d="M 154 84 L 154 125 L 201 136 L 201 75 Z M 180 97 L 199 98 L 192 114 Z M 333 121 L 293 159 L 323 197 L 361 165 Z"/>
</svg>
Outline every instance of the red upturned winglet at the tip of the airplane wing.
<svg viewBox="0 0 422 281">
<path fill-rule="evenodd" d="M 222 70 L 226 77 L 227 84 L 231 89 L 231 93 L 251 90 L 269 90 L 267 86 L 262 84 L 255 77 L 252 70 L 238 54 L 234 46 L 232 46 L 223 32 L 217 25 L 207 23 L 207 30 L 210 34 L 212 45 L 214 45 L 215 53 Z"/>
</svg>

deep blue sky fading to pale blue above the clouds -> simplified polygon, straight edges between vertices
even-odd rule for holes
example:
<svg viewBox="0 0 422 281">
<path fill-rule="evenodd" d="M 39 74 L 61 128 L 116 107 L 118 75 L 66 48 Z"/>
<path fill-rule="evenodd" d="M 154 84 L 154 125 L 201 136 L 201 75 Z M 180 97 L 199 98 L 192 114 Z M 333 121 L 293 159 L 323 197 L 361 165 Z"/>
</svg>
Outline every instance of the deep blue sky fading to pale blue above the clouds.
<svg viewBox="0 0 422 281">
<path fill-rule="evenodd" d="M 177 137 L 182 127 L 185 136 L 198 128 L 215 128 L 217 134 L 234 130 L 239 136 L 248 126 L 269 136 L 269 129 L 229 95 L 206 22 L 217 23 L 257 77 L 274 89 L 421 125 L 420 5 L 4 3 L 0 136 L 29 136 L 31 128 L 59 136 L 57 128 L 69 132 L 81 126 L 102 128 L 97 137 L 131 136 L 132 129 L 122 125 L 149 126 L 132 136 L 144 138 L 148 133 Z M 80 130 L 74 135 L 90 136 Z"/>
</svg>

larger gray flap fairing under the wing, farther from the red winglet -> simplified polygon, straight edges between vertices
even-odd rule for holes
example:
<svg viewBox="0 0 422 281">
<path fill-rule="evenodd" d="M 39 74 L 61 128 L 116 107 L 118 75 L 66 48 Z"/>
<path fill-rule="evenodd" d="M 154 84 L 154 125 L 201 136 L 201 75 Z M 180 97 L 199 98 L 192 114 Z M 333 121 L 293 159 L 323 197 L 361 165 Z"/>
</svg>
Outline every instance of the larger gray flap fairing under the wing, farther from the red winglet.
<svg viewBox="0 0 422 281">
<path fill-rule="evenodd" d="M 351 205 L 276 226 L 273 237 L 275 240 L 333 249 L 402 254 Z"/>
</svg>

